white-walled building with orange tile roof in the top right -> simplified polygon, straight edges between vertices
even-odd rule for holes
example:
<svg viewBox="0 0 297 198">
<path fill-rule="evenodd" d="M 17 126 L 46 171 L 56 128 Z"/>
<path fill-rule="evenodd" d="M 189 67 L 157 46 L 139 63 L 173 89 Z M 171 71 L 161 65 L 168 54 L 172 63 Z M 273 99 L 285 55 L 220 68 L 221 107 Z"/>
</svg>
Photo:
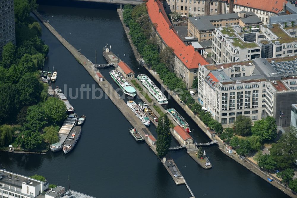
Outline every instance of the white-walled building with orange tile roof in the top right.
<svg viewBox="0 0 297 198">
<path fill-rule="evenodd" d="M 254 12 L 263 23 L 268 23 L 271 16 L 285 11 L 287 0 L 228 0 L 226 13 L 249 11 Z"/>
</svg>

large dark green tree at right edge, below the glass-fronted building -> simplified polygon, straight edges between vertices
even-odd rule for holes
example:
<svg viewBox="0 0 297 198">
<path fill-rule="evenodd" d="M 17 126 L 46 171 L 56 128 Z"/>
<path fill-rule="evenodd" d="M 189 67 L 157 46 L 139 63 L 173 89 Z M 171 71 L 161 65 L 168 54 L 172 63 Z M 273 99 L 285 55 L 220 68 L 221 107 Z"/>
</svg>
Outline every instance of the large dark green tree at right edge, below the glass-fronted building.
<svg viewBox="0 0 297 198">
<path fill-rule="evenodd" d="M 277 144 L 272 144 L 270 155 L 277 162 L 279 169 L 286 169 L 294 166 L 294 161 L 297 158 L 297 138 L 293 133 L 286 132 L 277 141 Z"/>
</svg>

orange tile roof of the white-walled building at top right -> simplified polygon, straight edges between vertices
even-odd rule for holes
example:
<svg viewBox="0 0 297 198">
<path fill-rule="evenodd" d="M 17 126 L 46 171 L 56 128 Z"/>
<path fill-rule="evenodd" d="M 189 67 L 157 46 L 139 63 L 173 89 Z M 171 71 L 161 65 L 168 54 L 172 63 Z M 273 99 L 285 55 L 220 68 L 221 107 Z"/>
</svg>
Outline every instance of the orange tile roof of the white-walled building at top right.
<svg viewBox="0 0 297 198">
<path fill-rule="evenodd" d="M 230 0 L 228 1 L 230 3 Z M 258 10 L 265 10 L 269 12 L 279 13 L 283 10 L 284 3 L 287 0 L 236 0 L 234 5 L 241 5 L 245 7 L 255 8 Z"/>
</svg>

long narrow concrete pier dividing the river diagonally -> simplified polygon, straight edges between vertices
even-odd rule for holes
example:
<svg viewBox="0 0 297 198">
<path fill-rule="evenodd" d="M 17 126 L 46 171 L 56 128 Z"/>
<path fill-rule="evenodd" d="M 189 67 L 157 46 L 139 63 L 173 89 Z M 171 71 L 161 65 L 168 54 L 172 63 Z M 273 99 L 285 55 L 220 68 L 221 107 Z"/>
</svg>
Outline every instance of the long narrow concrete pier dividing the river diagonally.
<svg viewBox="0 0 297 198">
<path fill-rule="evenodd" d="M 110 100 L 118 107 L 118 109 L 121 111 L 121 113 L 126 117 L 126 119 L 130 122 L 130 124 L 138 129 L 138 132 L 141 133 L 143 137 L 145 135 L 152 135 L 151 132 L 143 125 L 143 123 L 136 117 L 136 115 L 133 113 L 131 109 L 128 108 L 127 104 L 122 100 L 118 93 L 113 89 L 111 84 L 104 78 L 103 81 L 99 81 L 97 78 L 97 73 L 99 73 L 97 70 L 95 70 L 93 63 L 89 62 L 89 60 L 80 54 L 76 48 L 74 48 L 70 43 L 68 43 L 47 21 L 45 21 L 42 16 L 37 12 L 33 11 L 34 15 L 49 29 L 49 31 L 64 45 L 65 48 L 75 57 L 75 59 L 83 65 L 83 67 L 86 69 L 86 71 L 92 76 L 92 78 L 97 82 L 97 84 L 101 87 L 101 89 L 105 92 L 105 94 L 110 98 Z M 115 55 L 113 54 L 115 57 Z M 108 59 L 109 56 L 106 56 L 105 58 Z M 108 61 L 109 62 L 109 61 Z M 101 74 L 102 75 L 102 74 Z M 106 99 L 107 99 L 106 96 Z M 142 130 L 140 130 L 142 129 Z M 128 130 L 128 129 L 127 129 Z M 145 139 L 146 143 L 149 145 L 151 150 L 157 155 L 156 147 L 155 145 L 152 145 L 149 140 Z M 173 174 L 170 172 L 168 167 L 165 165 L 165 163 L 160 159 L 162 164 L 165 166 L 165 168 L 168 170 L 169 174 L 173 178 L 176 185 L 184 184 L 185 181 L 181 177 L 174 177 Z"/>
</svg>

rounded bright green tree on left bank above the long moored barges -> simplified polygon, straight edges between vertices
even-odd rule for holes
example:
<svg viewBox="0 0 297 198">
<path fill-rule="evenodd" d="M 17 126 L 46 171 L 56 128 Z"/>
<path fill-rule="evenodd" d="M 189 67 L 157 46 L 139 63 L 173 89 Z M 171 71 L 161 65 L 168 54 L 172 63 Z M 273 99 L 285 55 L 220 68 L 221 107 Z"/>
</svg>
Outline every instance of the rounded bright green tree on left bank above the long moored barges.
<svg viewBox="0 0 297 198">
<path fill-rule="evenodd" d="M 63 122 L 67 118 L 67 108 L 59 98 L 48 98 L 43 105 L 43 109 L 51 122 Z"/>
</svg>

